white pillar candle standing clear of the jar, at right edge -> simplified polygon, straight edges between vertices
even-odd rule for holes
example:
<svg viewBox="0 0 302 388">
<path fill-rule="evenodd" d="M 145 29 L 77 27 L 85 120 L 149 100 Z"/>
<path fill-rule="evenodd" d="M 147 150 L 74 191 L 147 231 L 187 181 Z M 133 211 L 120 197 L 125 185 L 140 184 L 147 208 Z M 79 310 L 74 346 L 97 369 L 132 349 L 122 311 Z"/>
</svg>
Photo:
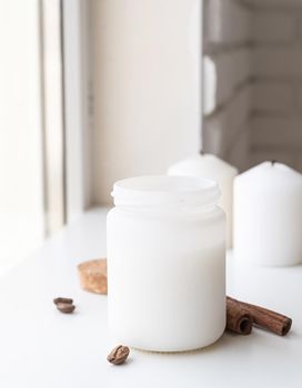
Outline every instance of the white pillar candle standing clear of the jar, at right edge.
<svg viewBox="0 0 302 388">
<path fill-rule="evenodd" d="M 264 266 L 302 263 L 302 175 L 264 162 L 234 181 L 234 253 Z"/>
</svg>

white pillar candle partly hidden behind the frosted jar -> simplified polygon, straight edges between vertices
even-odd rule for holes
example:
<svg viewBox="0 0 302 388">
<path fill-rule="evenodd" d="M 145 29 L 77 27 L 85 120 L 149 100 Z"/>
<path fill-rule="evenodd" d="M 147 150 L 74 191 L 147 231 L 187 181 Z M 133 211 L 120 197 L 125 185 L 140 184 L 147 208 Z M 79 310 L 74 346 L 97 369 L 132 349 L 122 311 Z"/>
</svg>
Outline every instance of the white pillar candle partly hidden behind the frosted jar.
<svg viewBox="0 0 302 388">
<path fill-rule="evenodd" d="M 238 170 L 212 154 L 200 154 L 183 160 L 168 170 L 168 175 L 202 176 L 218 182 L 220 206 L 226 215 L 226 247 L 232 247 L 233 180 Z"/>
</svg>

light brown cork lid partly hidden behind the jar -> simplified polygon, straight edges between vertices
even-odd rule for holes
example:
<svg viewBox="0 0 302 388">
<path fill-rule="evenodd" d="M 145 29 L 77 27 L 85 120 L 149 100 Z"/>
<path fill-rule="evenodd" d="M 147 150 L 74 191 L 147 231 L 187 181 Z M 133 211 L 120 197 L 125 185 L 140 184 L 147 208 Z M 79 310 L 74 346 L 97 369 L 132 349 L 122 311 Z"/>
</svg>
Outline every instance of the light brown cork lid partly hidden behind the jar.
<svg viewBox="0 0 302 388">
<path fill-rule="evenodd" d="M 90 293 L 107 294 L 107 259 L 97 258 L 78 265 L 81 287 Z"/>
</svg>

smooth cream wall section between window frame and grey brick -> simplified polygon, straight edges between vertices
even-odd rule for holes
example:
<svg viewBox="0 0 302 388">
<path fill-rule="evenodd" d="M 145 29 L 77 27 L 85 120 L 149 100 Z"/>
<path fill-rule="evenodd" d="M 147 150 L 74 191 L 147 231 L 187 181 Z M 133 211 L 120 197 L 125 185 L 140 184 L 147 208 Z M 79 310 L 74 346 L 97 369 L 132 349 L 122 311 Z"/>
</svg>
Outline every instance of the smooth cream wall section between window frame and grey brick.
<svg viewBox="0 0 302 388">
<path fill-rule="evenodd" d="M 201 146 L 201 0 L 91 0 L 92 202 Z"/>
</svg>

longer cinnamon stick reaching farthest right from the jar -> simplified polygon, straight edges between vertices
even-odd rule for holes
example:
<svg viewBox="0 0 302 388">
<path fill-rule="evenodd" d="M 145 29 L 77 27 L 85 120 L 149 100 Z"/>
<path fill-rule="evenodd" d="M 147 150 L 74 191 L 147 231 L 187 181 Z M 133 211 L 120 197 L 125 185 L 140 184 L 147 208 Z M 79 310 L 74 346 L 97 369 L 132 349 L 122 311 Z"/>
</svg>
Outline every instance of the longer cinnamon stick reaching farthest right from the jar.
<svg viewBox="0 0 302 388">
<path fill-rule="evenodd" d="M 285 336 L 291 329 L 292 319 L 282 314 L 260 306 L 251 305 L 249 303 L 240 302 L 228 296 L 226 306 L 229 305 L 241 308 L 242 312 L 251 317 L 253 325 L 275 333 L 279 336 Z"/>
</svg>

